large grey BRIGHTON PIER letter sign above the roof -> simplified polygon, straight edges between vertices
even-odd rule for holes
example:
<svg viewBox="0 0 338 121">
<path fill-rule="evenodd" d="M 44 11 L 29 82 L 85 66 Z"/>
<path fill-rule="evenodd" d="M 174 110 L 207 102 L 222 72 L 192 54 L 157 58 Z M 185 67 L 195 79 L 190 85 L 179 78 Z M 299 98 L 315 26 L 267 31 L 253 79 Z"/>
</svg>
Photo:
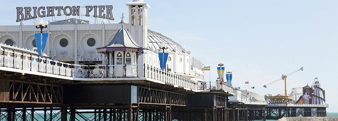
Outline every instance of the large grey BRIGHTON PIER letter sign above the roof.
<svg viewBox="0 0 338 121">
<path fill-rule="evenodd" d="M 53 17 L 54 12 L 57 12 L 57 16 L 62 16 L 62 13 L 66 16 L 80 16 L 80 6 L 66 6 L 66 7 L 17 7 L 17 22 L 36 19 L 37 17 Z M 93 11 L 95 18 L 114 20 L 112 16 L 112 6 L 86 6 L 86 16 L 90 17 L 90 13 Z M 104 12 L 105 11 L 105 12 Z M 32 14 L 33 12 L 33 14 Z"/>
</svg>

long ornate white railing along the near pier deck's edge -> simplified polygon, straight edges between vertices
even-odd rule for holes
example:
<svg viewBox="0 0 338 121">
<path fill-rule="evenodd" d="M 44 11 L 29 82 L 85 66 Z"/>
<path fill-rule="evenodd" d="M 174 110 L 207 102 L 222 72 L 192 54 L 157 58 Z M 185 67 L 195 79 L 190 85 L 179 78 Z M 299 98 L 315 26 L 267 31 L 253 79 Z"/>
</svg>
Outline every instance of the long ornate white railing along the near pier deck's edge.
<svg viewBox="0 0 338 121">
<path fill-rule="evenodd" d="M 0 54 L 0 66 L 74 78 L 149 78 L 180 88 L 201 90 L 193 80 L 148 65 L 72 65 L 36 55 L 22 52 L 13 54 L 7 51 L 6 55 Z M 203 90 L 233 93 L 233 87 L 224 82 L 210 82 L 207 87 Z"/>
</svg>

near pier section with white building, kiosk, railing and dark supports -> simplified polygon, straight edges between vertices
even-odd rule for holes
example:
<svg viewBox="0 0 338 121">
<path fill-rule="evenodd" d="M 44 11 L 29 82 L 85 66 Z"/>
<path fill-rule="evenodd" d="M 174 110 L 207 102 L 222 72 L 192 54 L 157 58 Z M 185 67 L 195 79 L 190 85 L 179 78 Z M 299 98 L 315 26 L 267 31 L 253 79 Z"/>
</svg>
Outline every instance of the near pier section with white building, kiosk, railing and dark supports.
<svg viewBox="0 0 338 121">
<path fill-rule="evenodd" d="M 202 62 L 148 29 L 148 4 L 126 5 L 129 22 L 49 22 L 43 56 L 35 26 L 0 26 L 0 120 L 227 120 L 233 87 L 201 88 Z"/>
</svg>

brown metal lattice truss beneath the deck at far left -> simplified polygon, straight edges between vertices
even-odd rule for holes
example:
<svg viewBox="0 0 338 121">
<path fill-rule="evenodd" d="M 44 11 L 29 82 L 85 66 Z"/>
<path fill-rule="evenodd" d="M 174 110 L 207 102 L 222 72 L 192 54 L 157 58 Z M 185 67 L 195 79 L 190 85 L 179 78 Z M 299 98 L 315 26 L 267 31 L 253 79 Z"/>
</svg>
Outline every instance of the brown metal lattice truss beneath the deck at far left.
<svg viewBox="0 0 338 121">
<path fill-rule="evenodd" d="M 6 80 L 0 83 L 4 96 L 0 102 L 11 103 L 43 103 L 62 104 L 63 96 L 60 85 L 27 82 L 19 80 Z"/>
</svg>

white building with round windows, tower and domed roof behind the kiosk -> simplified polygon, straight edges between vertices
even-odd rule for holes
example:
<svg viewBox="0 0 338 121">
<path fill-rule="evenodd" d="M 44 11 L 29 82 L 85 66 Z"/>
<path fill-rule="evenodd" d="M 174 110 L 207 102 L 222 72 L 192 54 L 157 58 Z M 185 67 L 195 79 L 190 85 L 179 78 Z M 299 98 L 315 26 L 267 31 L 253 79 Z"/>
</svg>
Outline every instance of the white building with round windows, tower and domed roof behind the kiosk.
<svg viewBox="0 0 338 121">
<path fill-rule="evenodd" d="M 75 22 L 74 24 L 51 22 L 53 24 L 43 29 L 44 33 L 49 33 L 44 53 L 61 62 L 111 65 L 112 60 L 104 54 L 98 53 L 96 48 L 107 45 L 124 25 L 124 28 L 130 32 L 132 38 L 140 46 L 149 49 L 148 53 L 141 54 L 138 59 L 136 59 L 135 52 L 130 52 L 132 65 L 145 64 L 160 68 L 158 52 L 162 52 L 162 50 L 159 49 L 158 45 L 167 44 L 169 47 L 165 52 L 169 53 L 169 57 L 166 63 L 166 71 L 176 73 L 187 79 L 202 81 L 201 78 L 196 78 L 196 75 L 199 75 L 198 77 L 203 75 L 201 69 L 194 68 L 194 71 L 192 70 L 190 50 L 187 51 L 185 47 L 183 48 L 180 44 L 160 33 L 148 30 L 147 11 L 150 6 L 143 1 L 133 1 L 126 5 L 129 8 L 129 23 L 80 24 L 81 20 L 76 20 L 80 21 L 76 24 Z M 75 19 L 70 21 L 75 21 Z M 35 47 L 34 34 L 36 33 L 40 33 L 40 29 L 36 29 L 34 25 L 0 26 L 0 43 L 7 41 L 6 43 L 12 44 L 10 42 L 12 40 L 13 46 L 33 50 Z M 114 56 L 117 56 L 117 54 L 118 52 L 115 52 Z M 115 57 L 114 65 L 117 64 L 116 59 Z"/>
</svg>

